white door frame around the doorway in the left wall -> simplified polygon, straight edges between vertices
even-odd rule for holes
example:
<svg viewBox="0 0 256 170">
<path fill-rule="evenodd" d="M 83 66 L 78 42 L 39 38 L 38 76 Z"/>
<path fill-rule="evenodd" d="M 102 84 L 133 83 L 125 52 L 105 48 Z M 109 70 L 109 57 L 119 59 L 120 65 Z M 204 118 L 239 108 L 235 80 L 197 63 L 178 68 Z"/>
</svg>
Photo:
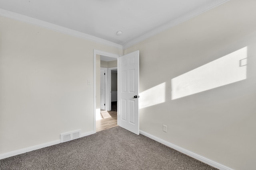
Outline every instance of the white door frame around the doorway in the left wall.
<svg viewBox="0 0 256 170">
<path fill-rule="evenodd" d="M 119 57 L 122 55 L 108 53 L 105 51 L 100 50 L 93 50 L 93 131 L 96 133 L 96 55 L 104 55 L 107 57 L 112 57 L 117 59 L 117 70 L 119 66 Z M 118 82 L 118 80 L 117 80 Z M 99 110 L 100 111 L 100 110 Z M 118 120 L 118 114 L 117 114 L 117 120 Z M 117 122 L 118 124 L 118 122 Z"/>
</svg>

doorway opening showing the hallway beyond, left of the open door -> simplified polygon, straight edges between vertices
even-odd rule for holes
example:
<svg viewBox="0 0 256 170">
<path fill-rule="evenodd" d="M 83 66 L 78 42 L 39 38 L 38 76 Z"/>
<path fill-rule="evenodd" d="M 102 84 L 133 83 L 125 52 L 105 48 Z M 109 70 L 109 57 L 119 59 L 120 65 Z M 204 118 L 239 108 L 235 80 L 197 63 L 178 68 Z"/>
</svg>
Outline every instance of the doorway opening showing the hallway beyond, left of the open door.
<svg viewBox="0 0 256 170">
<path fill-rule="evenodd" d="M 96 59 L 96 88 L 94 90 L 96 95 L 96 107 L 94 107 L 94 116 L 96 118 L 94 119 L 95 133 L 118 126 L 118 57 L 118 55 L 113 56 L 113 54 L 106 53 L 94 54 Z"/>
</svg>

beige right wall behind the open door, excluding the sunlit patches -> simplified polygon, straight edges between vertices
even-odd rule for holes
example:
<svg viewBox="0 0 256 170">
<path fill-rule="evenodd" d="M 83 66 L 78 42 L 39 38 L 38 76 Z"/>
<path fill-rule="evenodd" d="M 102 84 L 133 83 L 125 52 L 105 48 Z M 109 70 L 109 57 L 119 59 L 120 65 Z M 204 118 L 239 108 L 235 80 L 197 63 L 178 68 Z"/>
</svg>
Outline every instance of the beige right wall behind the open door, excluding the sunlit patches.
<svg viewBox="0 0 256 170">
<path fill-rule="evenodd" d="M 149 100 L 140 94 L 148 103 L 165 95 L 164 102 L 140 109 L 140 130 L 229 168 L 255 169 L 255 6 L 231 0 L 124 50 L 140 50 L 140 92 L 165 83 Z M 172 100 L 172 78 L 246 46 L 246 80 Z"/>
</svg>

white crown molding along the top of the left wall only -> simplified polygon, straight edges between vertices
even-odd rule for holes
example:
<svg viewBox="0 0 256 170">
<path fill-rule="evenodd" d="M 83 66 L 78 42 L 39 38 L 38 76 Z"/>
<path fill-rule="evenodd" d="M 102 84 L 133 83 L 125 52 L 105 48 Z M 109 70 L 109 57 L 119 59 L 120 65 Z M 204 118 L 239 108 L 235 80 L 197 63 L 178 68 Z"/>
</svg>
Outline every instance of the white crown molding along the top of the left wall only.
<svg viewBox="0 0 256 170">
<path fill-rule="evenodd" d="M 21 14 L 17 14 L 15 12 L 10 12 L 10 11 L 7 11 L 7 10 L 3 10 L 1 8 L 0 8 L 0 16 L 15 19 L 15 20 L 19 20 L 19 21 L 23 21 L 23 22 L 27 22 L 27 23 L 31 23 L 33 25 L 38 25 L 38 26 L 41 26 L 41 27 L 45 27 L 47 29 L 51 29 L 51 30 L 54 30 L 54 31 L 58 31 L 58 32 L 61 32 L 61 33 L 72 35 L 74 37 L 79 37 L 79 38 L 86 39 L 86 40 L 89 40 L 89 41 L 94 41 L 96 43 L 101 43 L 101 44 L 104 44 L 104 45 L 109 45 L 109 46 L 112 46 L 112 47 L 117 47 L 119 49 L 123 49 L 123 46 L 120 45 L 120 44 L 113 43 L 111 41 L 107 41 L 105 39 L 95 37 L 95 36 L 92 36 L 92 35 L 89 35 L 89 34 L 86 34 L 86 33 L 75 31 L 73 29 L 69 29 L 69 28 L 66 28 L 66 27 L 55 25 L 55 24 L 52 24 L 52 23 L 49 23 L 49 22 L 46 22 L 46 21 L 42 21 L 42 20 L 38 20 L 38 19 L 31 18 L 31 17 L 28 17 L 28 16 L 24 16 L 24 15 L 21 15 Z"/>
</svg>

